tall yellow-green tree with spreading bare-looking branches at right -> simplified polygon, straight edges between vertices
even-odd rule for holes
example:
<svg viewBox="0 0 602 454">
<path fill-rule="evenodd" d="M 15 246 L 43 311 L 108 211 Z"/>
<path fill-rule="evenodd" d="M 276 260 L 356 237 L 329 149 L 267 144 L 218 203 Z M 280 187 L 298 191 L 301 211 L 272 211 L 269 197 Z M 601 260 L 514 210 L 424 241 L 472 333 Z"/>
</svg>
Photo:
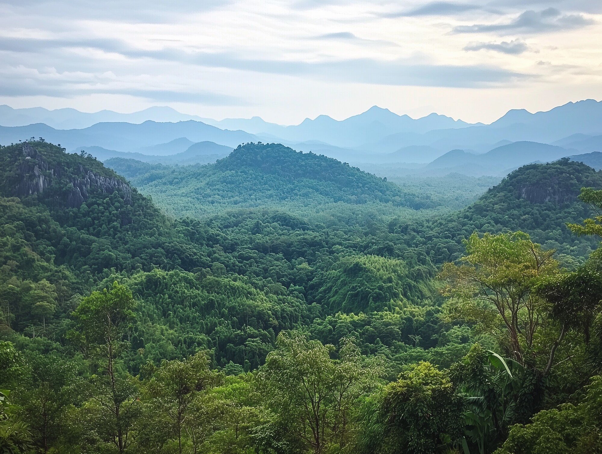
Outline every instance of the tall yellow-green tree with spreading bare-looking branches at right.
<svg viewBox="0 0 602 454">
<path fill-rule="evenodd" d="M 545 352 L 535 348 L 538 330 L 550 324 L 547 304 L 535 289 L 558 273 L 554 250 L 542 250 L 523 232 L 473 233 L 464 244 L 461 263 L 445 263 L 439 273 L 445 282 L 442 293 L 454 298 L 448 304 L 448 317 L 497 334 L 510 358 L 521 365 L 535 367 L 536 356 L 544 354 L 541 374 L 547 375 L 566 327 L 560 327 Z"/>
</svg>

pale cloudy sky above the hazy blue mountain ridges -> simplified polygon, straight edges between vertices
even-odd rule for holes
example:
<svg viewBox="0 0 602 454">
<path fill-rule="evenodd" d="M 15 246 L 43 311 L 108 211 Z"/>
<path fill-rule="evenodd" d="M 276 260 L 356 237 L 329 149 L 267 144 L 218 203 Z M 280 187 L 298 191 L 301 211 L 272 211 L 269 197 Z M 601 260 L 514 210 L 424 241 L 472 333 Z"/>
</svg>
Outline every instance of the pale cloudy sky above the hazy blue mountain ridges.
<svg viewBox="0 0 602 454">
<path fill-rule="evenodd" d="M 298 124 L 602 99 L 600 0 L 0 0 L 0 104 Z"/>
</svg>

